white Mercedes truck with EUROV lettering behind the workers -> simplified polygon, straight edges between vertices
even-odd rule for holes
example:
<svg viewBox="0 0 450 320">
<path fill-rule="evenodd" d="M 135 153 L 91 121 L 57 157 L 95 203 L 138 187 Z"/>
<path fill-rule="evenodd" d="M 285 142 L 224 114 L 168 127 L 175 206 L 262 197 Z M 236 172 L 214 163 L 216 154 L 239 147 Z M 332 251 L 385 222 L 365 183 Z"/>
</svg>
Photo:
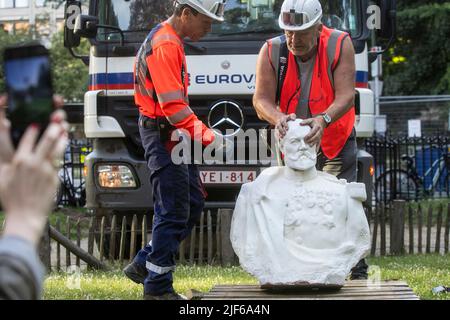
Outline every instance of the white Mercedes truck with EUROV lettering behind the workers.
<svg viewBox="0 0 450 320">
<path fill-rule="evenodd" d="M 252 105 L 256 60 L 267 39 L 282 33 L 278 16 L 282 0 L 228 0 L 225 22 L 199 42 L 186 39 L 190 106 L 200 120 L 225 135 L 267 128 Z M 375 126 L 374 92 L 369 89 L 369 65 L 379 52 L 373 35 L 392 40 L 395 33 L 395 1 L 323 0 L 324 25 L 351 35 L 356 52 L 355 128 L 359 145 L 371 137 Z M 173 11 L 172 1 L 90 0 L 89 13 L 81 13 L 80 1 L 65 6 L 64 44 L 89 67 L 89 87 L 84 97 L 84 130 L 93 149 L 86 157 L 86 207 L 98 218 L 112 215 L 143 216 L 153 210 L 149 171 L 138 132 L 138 108 L 134 104 L 133 65 L 148 32 Z M 76 53 L 80 38 L 90 41 L 89 56 Z M 262 131 L 264 132 L 264 131 Z M 260 134 L 245 140 L 246 150 L 266 139 Z M 267 145 L 267 144 L 266 144 Z M 200 164 L 208 193 L 206 208 L 233 208 L 243 183 L 254 180 L 273 161 L 261 163 L 247 156 L 240 163 Z M 250 152 L 249 152 L 250 155 Z M 367 186 L 371 203 L 373 158 L 358 151 L 358 181 Z M 104 241 L 108 254 L 108 243 Z M 139 243 L 139 242 L 138 242 Z"/>
</svg>

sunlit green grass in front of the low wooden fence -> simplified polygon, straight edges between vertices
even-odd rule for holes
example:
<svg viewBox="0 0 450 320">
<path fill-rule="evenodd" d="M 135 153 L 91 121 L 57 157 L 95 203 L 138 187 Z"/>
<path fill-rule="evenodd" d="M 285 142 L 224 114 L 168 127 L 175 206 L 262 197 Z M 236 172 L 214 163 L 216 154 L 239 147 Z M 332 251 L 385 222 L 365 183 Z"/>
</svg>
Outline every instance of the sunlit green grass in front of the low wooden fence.
<svg viewBox="0 0 450 320">
<path fill-rule="evenodd" d="M 370 258 L 372 267 L 381 269 L 383 280 L 406 281 L 421 299 L 449 299 L 450 293 L 433 295 L 438 285 L 450 286 L 450 255 L 422 255 Z M 129 281 L 120 271 L 81 274 L 79 289 L 69 289 L 76 277 L 52 274 L 45 282 L 44 299 L 135 300 L 142 298 L 142 286 Z M 174 274 L 175 290 L 202 292 L 218 284 L 257 284 L 257 280 L 239 267 L 180 266 Z"/>
</svg>

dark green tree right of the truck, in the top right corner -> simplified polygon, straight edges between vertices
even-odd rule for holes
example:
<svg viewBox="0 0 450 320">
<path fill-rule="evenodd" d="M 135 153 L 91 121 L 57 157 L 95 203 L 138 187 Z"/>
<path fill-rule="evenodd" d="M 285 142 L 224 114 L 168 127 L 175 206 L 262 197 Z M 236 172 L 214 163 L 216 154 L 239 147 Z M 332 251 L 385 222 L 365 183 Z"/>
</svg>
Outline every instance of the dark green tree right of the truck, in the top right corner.
<svg viewBox="0 0 450 320">
<path fill-rule="evenodd" d="M 385 56 L 384 94 L 449 94 L 450 2 L 399 1 L 397 16 L 397 41 Z"/>
</svg>

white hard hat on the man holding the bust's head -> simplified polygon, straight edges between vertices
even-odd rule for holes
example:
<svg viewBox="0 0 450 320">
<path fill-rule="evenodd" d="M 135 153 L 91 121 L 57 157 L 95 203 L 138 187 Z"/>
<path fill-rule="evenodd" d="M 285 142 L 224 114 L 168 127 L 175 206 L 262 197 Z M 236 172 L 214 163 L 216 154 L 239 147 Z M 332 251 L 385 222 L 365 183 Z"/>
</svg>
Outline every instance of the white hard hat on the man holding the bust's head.
<svg viewBox="0 0 450 320">
<path fill-rule="evenodd" d="M 299 31 L 311 28 L 321 18 L 319 0 L 284 0 L 278 23 L 281 29 Z"/>
</svg>

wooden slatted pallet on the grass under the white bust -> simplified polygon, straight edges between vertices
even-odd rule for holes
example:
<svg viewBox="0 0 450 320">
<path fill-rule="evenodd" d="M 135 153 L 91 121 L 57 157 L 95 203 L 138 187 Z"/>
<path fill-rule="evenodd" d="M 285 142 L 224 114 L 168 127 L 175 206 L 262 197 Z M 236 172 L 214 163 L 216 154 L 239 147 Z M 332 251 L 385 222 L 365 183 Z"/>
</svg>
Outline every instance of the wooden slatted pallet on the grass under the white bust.
<svg viewBox="0 0 450 320">
<path fill-rule="evenodd" d="M 267 291 L 258 285 L 219 285 L 202 300 L 419 300 L 403 281 L 382 281 L 378 287 L 365 280 L 348 281 L 340 290 Z"/>
</svg>

